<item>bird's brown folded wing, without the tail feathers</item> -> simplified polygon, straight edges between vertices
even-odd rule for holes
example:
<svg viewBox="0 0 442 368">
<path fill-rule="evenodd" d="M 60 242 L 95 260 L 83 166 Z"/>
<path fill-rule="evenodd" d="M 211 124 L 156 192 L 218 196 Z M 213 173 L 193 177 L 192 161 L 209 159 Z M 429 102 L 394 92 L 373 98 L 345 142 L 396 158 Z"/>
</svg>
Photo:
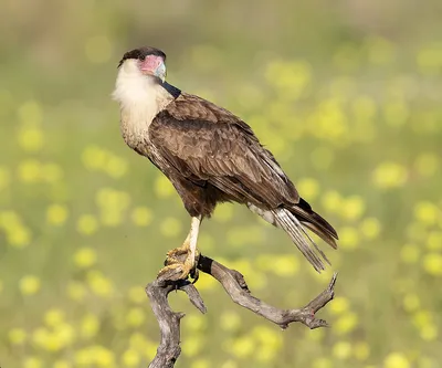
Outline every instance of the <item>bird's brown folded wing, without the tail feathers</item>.
<svg viewBox="0 0 442 368">
<path fill-rule="evenodd" d="M 239 202 L 276 208 L 298 193 L 252 129 L 230 112 L 182 94 L 152 120 L 149 139 L 189 180 L 209 182 Z"/>
</svg>

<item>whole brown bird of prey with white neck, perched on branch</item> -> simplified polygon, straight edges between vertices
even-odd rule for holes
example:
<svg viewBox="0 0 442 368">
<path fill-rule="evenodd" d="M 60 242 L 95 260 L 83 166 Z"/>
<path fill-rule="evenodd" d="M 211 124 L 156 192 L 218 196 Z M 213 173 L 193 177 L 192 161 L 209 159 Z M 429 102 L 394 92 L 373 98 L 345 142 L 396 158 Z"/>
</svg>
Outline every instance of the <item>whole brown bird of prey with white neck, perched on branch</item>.
<svg viewBox="0 0 442 368">
<path fill-rule="evenodd" d="M 167 253 L 159 275 L 196 278 L 201 221 L 222 202 L 244 204 L 284 230 L 317 272 L 325 270 L 330 262 L 307 230 L 337 249 L 336 230 L 299 196 L 245 122 L 167 83 L 166 74 L 161 50 L 134 49 L 118 63 L 113 92 L 125 143 L 170 180 L 191 218 L 185 242 Z"/>
</svg>

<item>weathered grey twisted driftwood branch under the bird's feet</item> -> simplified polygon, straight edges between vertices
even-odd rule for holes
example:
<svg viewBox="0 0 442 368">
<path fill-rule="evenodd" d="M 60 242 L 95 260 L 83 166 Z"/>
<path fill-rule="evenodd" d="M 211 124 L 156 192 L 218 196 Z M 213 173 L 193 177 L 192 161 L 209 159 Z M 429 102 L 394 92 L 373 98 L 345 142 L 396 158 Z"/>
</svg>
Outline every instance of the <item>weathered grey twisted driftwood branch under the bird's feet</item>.
<svg viewBox="0 0 442 368">
<path fill-rule="evenodd" d="M 235 270 L 230 270 L 221 263 L 201 255 L 198 270 L 214 277 L 225 290 L 232 301 L 253 313 L 278 325 L 285 329 L 293 322 L 301 322 L 311 329 L 328 326 L 324 319 L 317 319 L 315 313 L 323 308 L 334 297 L 334 287 L 337 274 L 332 277 L 327 288 L 306 306 L 298 309 L 280 309 L 254 297 L 245 283 L 244 276 Z M 161 341 L 157 355 L 149 368 L 171 368 L 175 366 L 180 353 L 180 320 L 183 313 L 173 312 L 168 303 L 171 291 L 182 291 L 190 302 L 201 312 L 206 313 L 204 303 L 197 288 L 189 281 L 170 281 L 173 275 L 161 275 L 146 287 L 147 296 L 158 320 Z"/>
</svg>

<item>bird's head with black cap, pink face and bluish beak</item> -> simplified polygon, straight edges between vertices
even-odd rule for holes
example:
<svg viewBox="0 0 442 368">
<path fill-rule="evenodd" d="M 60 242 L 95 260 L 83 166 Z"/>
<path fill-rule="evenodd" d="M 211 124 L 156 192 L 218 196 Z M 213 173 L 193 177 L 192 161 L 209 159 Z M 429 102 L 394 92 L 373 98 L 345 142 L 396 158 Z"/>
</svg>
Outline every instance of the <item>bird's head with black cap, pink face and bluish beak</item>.
<svg viewBox="0 0 442 368">
<path fill-rule="evenodd" d="M 118 69 L 125 69 L 127 73 L 141 74 L 166 80 L 166 54 L 155 48 L 139 48 L 126 52 L 118 63 Z"/>
</svg>

